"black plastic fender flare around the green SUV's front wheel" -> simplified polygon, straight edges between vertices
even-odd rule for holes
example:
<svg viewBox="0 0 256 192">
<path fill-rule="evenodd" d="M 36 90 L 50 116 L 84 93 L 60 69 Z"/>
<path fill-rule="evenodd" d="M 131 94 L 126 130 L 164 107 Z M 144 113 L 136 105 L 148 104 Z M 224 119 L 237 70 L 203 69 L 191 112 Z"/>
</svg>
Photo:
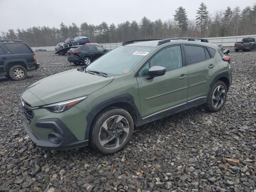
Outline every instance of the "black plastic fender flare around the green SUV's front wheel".
<svg viewBox="0 0 256 192">
<path fill-rule="evenodd" d="M 131 94 L 129 93 L 122 93 L 110 98 L 107 98 L 99 103 L 97 103 L 94 108 L 92 108 L 92 110 L 90 111 L 90 114 L 88 114 L 86 116 L 86 121 L 87 121 L 87 126 L 86 126 L 86 131 L 85 131 L 85 139 L 89 139 L 89 133 L 90 133 L 90 128 L 92 126 L 92 122 L 94 120 L 94 118 L 96 117 L 96 115 L 98 115 L 98 113 L 106 108 L 107 106 L 116 104 L 116 103 L 125 103 L 128 104 L 130 107 L 132 107 L 136 113 L 136 124 L 138 124 L 139 122 L 142 121 L 140 112 L 136 106 L 136 104 L 134 103 L 134 98 Z"/>
</svg>

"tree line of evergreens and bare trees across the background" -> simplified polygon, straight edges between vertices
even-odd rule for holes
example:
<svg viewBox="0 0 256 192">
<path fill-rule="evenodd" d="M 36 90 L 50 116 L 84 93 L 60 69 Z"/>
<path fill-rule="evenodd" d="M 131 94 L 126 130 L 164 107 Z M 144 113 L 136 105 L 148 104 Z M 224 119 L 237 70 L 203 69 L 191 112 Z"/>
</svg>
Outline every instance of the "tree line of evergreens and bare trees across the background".
<svg viewBox="0 0 256 192">
<path fill-rule="evenodd" d="M 140 22 L 126 21 L 118 25 L 102 22 L 99 25 L 87 22 L 77 26 L 74 22 L 59 28 L 34 26 L 27 29 L 9 29 L 2 32 L 0 39 L 19 39 L 31 47 L 55 46 L 68 37 L 86 36 L 91 42 L 115 43 L 137 39 L 164 39 L 173 37 L 220 37 L 256 34 L 256 4 L 244 9 L 236 6 L 210 14 L 206 4 L 200 4 L 196 18 L 188 19 L 186 9 L 178 7 L 173 18 L 151 21 L 143 17 Z"/>
</svg>

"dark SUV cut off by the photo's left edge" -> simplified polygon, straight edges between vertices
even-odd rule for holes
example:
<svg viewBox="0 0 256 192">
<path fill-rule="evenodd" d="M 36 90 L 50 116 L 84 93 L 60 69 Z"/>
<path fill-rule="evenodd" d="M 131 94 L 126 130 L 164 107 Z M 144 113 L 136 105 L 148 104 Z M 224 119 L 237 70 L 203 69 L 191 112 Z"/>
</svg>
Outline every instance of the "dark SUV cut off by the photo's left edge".
<svg viewBox="0 0 256 192">
<path fill-rule="evenodd" d="M 22 40 L 0 40 L 0 76 L 24 80 L 27 71 L 39 66 L 34 52 Z"/>
</svg>

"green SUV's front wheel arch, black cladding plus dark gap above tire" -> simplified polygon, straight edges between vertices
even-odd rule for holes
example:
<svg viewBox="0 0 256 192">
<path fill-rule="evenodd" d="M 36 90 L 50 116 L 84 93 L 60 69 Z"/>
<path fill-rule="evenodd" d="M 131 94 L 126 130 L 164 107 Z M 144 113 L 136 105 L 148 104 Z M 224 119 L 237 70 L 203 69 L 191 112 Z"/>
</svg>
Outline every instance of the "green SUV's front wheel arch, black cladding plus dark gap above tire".
<svg viewBox="0 0 256 192">
<path fill-rule="evenodd" d="M 119 107 L 123 108 L 124 110 L 127 110 L 129 114 L 132 116 L 132 119 L 134 121 L 134 126 L 138 124 L 138 122 L 141 122 L 141 116 L 140 112 L 134 103 L 133 96 L 128 93 L 120 94 L 111 98 L 108 98 L 106 100 L 103 100 L 102 102 L 99 102 L 94 106 L 94 108 L 91 110 L 90 114 L 86 117 L 87 126 L 86 126 L 86 132 L 85 132 L 85 139 L 89 139 L 89 133 L 92 128 L 93 122 L 96 120 L 97 116 L 102 113 L 104 110 L 111 108 L 111 107 Z"/>
</svg>

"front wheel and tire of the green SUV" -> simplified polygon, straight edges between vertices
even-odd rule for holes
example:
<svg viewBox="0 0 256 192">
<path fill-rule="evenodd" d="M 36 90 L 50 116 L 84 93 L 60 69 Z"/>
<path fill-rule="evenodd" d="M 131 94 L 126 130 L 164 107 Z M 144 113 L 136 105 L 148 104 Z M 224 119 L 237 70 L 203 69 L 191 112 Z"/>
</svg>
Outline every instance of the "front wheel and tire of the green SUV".
<svg viewBox="0 0 256 192">
<path fill-rule="evenodd" d="M 89 144 L 97 152 L 113 154 L 126 146 L 133 128 L 132 116 L 126 110 L 107 108 L 92 123 Z"/>
</svg>

